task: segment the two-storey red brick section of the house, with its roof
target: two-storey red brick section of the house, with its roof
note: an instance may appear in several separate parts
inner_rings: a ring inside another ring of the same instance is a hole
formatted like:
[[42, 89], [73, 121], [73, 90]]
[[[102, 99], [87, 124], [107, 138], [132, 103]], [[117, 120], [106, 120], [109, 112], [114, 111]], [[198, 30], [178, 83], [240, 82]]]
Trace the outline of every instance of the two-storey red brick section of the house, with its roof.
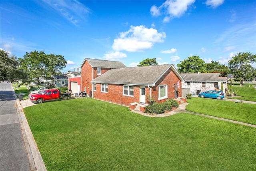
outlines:
[[90, 97], [92, 97], [93, 84], [91, 81], [93, 79], [101, 76], [109, 70], [126, 68], [126, 66], [122, 62], [86, 58], [82, 62], [80, 68], [82, 78], [80, 91], [85, 91]]

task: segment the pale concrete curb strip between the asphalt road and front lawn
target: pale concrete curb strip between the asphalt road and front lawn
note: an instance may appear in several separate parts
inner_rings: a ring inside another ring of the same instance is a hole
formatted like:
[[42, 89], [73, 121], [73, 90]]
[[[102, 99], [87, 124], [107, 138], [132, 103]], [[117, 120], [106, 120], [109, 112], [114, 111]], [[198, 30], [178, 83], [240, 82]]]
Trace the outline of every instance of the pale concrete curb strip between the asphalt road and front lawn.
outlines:
[[[16, 97], [15, 91], [13, 89], [14, 97]], [[46, 167], [44, 165], [44, 161], [42, 159], [42, 156], [40, 154], [40, 151], [36, 145], [36, 141], [33, 137], [33, 134], [31, 132], [31, 129], [28, 125], [28, 121], [26, 119], [26, 116], [23, 112], [22, 106], [20, 104], [20, 100], [16, 98], [15, 100], [17, 113], [18, 113], [18, 119], [20, 121], [21, 131], [22, 131], [22, 137], [24, 139], [26, 151], [28, 153], [28, 159], [29, 159], [29, 165], [30, 169], [32, 171], [47, 171]]]

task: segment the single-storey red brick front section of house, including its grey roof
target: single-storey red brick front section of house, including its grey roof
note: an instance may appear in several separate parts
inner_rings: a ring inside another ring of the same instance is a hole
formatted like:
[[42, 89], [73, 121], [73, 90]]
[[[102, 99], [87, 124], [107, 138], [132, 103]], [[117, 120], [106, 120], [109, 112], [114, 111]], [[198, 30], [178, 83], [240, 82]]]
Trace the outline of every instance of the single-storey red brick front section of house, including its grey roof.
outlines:
[[[97, 71], [91, 70], [87, 72]], [[178, 98], [185, 81], [172, 64], [112, 69], [92, 78], [92, 97], [126, 106], [146, 103], [147, 95], [157, 103]]]

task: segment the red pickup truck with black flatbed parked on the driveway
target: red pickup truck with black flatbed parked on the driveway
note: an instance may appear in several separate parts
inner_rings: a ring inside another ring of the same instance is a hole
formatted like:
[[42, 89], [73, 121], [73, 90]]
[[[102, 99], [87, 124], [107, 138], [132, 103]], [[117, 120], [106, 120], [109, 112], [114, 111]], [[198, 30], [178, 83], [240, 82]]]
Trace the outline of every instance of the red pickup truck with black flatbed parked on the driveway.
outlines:
[[33, 103], [43, 103], [46, 100], [52, 99], [64, 99], [67, 100], [68, 97], [71, 97], [71, 93], [62, 93], [59, 89], [46, 89], [41, 93], [32, 94], [30, 96], [30, 101]]

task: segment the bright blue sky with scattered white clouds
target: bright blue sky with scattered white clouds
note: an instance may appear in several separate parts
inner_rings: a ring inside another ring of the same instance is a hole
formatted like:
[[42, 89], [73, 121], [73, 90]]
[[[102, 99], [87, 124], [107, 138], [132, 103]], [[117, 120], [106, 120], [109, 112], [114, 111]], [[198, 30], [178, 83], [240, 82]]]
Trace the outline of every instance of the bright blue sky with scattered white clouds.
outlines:
[[1, 45], [10, 55], [62, 55], [74, 71], [85, 58], [137, 66], [146, 58], [206, 63], [256, 54], [255, 0], [1, 0]]

